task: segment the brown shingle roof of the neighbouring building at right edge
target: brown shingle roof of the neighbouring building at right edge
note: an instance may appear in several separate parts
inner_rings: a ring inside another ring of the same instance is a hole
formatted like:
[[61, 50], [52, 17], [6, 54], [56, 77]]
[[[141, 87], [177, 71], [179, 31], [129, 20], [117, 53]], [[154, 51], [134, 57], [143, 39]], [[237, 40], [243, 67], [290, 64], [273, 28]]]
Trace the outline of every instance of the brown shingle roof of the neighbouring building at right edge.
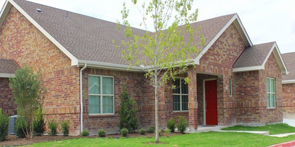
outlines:
[[289, 74], [283, 75], [282, 80], [295, 80], [295, 52], [282, 54]]

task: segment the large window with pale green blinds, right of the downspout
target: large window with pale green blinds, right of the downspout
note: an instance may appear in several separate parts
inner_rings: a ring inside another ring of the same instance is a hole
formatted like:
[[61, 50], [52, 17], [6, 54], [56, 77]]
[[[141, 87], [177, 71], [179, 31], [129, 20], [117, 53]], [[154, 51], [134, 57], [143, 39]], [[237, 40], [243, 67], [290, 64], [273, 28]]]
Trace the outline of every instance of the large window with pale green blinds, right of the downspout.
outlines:
[[114, 114], [114, 78], [89, 75], [89, 114]]

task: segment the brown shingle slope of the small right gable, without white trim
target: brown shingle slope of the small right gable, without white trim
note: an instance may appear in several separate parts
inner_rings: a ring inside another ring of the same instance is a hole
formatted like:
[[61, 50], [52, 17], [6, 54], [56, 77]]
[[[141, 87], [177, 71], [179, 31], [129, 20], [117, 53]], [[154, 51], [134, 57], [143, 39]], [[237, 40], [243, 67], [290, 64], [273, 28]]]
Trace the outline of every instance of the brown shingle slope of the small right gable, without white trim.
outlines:
[[258, 44], [246, 48], [236, 61], [234, 68], [261, 66], [274, 43]]

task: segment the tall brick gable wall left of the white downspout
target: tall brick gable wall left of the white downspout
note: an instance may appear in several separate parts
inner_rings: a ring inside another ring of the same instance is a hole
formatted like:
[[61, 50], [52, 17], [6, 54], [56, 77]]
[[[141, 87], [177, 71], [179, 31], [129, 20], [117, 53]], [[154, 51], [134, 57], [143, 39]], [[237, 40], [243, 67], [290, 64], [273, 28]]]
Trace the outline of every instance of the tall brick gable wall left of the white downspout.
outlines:
[[0, 28], [0, 58], [40, 70], [48, 91], [42, 100], [46, 121], [68, 119], [70, 134], [79, 134], [79, 68], [13, 6]]

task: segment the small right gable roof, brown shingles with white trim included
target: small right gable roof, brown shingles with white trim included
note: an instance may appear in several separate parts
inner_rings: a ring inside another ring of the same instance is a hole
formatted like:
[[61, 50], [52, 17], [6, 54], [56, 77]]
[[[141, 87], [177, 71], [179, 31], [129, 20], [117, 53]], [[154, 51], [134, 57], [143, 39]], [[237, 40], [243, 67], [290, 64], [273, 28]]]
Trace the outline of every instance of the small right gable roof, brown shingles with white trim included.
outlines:
[[233, 67], [233, 72], [264, 70], [266, 61], [271, 53], [274, 53], [282, 73], [288, 74], [287, 67], [276, 42], [253, 45], [244, 49]]

